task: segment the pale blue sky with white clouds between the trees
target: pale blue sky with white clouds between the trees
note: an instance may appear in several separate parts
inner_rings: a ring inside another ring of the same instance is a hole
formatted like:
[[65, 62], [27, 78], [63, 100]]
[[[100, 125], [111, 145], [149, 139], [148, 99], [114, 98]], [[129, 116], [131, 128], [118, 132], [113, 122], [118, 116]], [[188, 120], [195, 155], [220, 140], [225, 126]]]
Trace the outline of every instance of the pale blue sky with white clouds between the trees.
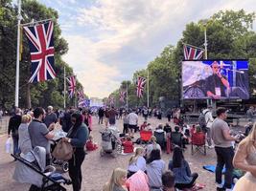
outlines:
[[255, 0], [37, 1], [58, 11], [69, 46], [63, 60], [74, 69], [84, 93], [102, 98], [146, 69], [166, 46], [176, 45], [186, 24], [221, 10], [256, 11]]

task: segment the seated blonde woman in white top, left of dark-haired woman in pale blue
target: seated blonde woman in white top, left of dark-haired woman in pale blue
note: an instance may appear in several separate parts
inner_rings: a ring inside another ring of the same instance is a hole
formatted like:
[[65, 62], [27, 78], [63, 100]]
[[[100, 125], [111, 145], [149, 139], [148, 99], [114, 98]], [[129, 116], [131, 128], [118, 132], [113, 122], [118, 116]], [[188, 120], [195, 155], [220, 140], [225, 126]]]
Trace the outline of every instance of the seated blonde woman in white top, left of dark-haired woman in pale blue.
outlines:
[[144, 148], [138, 147], [135, 150], [135, 155], [128, 160], [128, 178], [138, 172], [146, 171], [146, 159], [143, 158]]

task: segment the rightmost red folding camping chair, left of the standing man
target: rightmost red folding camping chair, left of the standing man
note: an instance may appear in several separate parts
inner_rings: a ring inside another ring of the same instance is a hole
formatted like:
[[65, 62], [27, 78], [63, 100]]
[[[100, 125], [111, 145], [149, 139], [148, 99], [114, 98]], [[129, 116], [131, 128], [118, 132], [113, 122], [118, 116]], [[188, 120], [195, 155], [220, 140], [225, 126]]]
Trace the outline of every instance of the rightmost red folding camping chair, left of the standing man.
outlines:
[[191, 135], [191, 154], [198, 151], [206, 156], [205, 135], [202, 132]]

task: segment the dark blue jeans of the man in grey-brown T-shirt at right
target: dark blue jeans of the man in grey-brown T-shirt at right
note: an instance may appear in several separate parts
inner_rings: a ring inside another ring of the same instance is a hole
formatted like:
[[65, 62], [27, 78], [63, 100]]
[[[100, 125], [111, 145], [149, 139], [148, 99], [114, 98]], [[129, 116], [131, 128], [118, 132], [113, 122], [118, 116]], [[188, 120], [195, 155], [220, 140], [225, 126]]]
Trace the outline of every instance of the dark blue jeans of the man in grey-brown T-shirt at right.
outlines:
[[233, 147], [215, 147], [217, 154], [217, 166], [215, 172], [216, 182], [221, 184], [222, 169], [225, 165], [225, 174], [224, 174], [224, 188], [231, 188], [232, 186], [232, 173], [233, 173], [233, 164], [232, 160], [234, 158], [234, 149]]

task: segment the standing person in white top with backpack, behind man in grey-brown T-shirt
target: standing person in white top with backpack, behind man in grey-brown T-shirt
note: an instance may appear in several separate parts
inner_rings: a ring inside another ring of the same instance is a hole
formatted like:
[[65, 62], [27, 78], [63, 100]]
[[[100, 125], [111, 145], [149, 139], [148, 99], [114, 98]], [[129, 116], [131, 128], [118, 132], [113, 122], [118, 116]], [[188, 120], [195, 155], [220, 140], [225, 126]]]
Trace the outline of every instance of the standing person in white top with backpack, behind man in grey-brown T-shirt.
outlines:
[[212, 145], [212, 138], [211, 138], [211, 128], [214, 121], [213, 115], [212, 115], [212, 106], [208, 106], [207, 109], [202, 111], [202, 114], [205, 119], [205, 128], [206, 128], [206, 136], [207, 136], [207, 143], [208, 147], [210, 149], [214, 148]]

